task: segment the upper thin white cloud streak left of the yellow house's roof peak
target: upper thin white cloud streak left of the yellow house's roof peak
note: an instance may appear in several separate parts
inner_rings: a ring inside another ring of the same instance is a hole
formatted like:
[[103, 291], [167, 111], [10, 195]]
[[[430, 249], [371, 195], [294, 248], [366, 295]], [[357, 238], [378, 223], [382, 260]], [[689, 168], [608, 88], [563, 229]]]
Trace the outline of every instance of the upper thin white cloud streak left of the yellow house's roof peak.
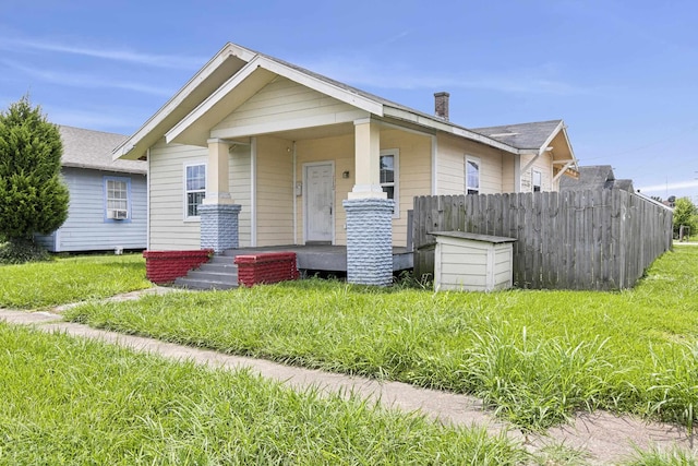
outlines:
[[81, 55], [103, 60], [113, 60], [149, 67], [173, 68], [181, 70], [196, 70], [206, 62], [206, 59], [202, 59], [201, 57], [141, 53], [130, 50], [91, 48], [81, 45], [65, 45], [57, 41], [25, 40], [7, 37], [0, 38], [0, 49], [8, 51], [52, 51], [59, 53]]

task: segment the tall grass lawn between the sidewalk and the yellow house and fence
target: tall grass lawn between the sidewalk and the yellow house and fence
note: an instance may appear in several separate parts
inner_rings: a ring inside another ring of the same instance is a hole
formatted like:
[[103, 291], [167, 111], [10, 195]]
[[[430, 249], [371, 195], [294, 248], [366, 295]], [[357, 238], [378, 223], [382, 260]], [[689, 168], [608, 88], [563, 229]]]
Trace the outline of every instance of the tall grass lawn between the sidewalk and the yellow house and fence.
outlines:
[[493, 294], [302, 280], [87, 303], [125, 333], [482, 397], [528, 429], [578, 409], [698, 421], [698, 248], [633, 290]]

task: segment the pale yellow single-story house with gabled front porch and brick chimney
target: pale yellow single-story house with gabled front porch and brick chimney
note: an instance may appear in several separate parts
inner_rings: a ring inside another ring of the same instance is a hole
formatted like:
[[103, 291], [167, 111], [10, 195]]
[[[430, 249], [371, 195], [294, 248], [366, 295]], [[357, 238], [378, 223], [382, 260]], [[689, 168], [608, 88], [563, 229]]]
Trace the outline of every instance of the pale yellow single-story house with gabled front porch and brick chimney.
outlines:
[[392, 280], [426, 194], [555, 191], [562, 120], [467, 129], [227, 44], [116, 150], [147, 160], [148, 250], [342, 244], [353, 283]]

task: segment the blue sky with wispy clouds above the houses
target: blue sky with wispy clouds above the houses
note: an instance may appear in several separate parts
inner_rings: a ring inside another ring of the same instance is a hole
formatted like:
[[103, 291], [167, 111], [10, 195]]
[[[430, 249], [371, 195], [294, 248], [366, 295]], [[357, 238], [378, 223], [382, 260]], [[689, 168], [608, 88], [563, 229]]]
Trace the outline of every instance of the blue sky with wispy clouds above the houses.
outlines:
[[232, 41], [468, 128], [562, 118], [581, 165], [698, 202], [698, 2], [1, 0], [0, 107], [134, 132]]

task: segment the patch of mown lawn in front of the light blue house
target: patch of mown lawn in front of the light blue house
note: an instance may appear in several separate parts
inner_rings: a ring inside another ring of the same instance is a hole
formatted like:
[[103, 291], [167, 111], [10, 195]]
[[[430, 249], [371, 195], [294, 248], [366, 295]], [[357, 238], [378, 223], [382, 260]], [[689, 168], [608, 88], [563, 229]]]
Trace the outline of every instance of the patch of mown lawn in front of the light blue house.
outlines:
[[43, 309], [151, 286], [140, 254], [79, 255], [0, 265], [0, 308]]

